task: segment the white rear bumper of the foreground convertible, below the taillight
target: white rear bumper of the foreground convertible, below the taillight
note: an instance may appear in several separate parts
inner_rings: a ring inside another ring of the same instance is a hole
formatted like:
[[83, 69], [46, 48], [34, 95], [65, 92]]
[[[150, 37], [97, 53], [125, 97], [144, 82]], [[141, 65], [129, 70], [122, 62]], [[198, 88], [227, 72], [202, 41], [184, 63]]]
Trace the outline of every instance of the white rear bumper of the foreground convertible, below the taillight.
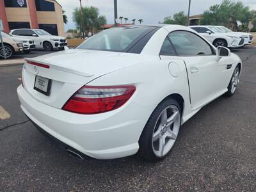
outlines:
[[17, 88], [24, 113], [45, 132], [86, 156], [113, 159], [135, 154], [138, 140], [154, 106], [132, 101], [108, 113], [80, 115], [42, 104], [22, 86]]

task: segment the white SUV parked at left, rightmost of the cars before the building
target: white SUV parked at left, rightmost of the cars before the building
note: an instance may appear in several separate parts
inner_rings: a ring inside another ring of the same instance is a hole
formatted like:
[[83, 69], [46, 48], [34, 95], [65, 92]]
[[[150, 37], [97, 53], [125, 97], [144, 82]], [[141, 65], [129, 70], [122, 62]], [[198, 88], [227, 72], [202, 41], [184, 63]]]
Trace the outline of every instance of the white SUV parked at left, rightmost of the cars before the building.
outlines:
[[45, 51], [63, 49], [67, 45], [67, 41], [63, 36], [51, 35], [43, 29], [13, 29], [10, 34], [34, 40], [36, 48], [44, 49]]

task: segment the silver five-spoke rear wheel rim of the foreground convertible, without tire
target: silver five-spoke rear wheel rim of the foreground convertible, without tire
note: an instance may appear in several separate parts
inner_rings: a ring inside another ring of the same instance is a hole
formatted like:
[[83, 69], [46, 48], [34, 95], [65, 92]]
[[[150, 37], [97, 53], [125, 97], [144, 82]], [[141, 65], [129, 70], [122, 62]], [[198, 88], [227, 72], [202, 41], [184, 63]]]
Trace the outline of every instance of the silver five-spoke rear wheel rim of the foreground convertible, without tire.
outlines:
[[177, 106], [165, 108], [157, 118], [152, 135], [152, 147], [157, 157], [165, 156], [173, 147], [180, 128], [180, 112]]

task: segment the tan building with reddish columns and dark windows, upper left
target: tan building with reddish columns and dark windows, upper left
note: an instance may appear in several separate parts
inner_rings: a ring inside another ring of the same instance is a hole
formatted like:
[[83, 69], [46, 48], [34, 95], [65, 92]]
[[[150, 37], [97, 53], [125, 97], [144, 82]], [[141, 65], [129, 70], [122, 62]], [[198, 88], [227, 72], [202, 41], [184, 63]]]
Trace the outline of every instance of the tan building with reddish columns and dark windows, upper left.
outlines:
[[62, 7], [54, 0], [0, 0], [0, 20], [8, 33], [31, 28], [64, 36]]

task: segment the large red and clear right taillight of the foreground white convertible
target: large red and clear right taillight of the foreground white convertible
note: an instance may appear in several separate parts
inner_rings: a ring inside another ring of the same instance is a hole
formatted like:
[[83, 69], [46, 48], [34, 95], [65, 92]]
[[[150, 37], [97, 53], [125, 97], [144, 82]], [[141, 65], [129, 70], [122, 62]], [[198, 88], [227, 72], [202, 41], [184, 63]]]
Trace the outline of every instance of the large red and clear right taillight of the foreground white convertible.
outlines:
[[62, 109], [74, 113], [95, 114], [120, 108], [136, 87], [131, 86], [83, 86]]

